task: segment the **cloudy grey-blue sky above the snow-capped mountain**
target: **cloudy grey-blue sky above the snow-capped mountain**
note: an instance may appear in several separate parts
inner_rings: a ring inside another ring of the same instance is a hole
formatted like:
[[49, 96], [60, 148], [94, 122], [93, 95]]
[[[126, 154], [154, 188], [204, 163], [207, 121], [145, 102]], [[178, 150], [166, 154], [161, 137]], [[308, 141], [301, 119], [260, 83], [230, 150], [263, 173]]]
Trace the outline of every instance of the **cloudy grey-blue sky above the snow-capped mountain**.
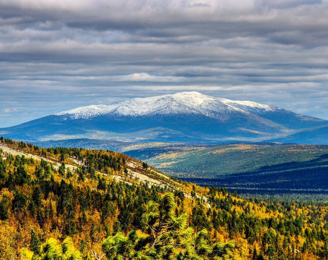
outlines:
[[197, 91], [328, 119], [328, 1], [0, 0], [0, 127]]

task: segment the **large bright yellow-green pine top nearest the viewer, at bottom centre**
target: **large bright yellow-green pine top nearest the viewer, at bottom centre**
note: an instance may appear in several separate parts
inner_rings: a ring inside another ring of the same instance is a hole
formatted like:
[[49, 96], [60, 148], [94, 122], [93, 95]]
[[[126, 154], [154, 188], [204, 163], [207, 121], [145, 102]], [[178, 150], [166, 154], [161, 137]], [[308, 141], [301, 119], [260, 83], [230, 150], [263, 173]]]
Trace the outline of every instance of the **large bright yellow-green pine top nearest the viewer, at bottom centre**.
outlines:
[[159, 203], [149, 201], [142, 215], [143, 230], [131, 230], [125, 236], [117, 232], [102, 244], [107, 259], [227, 259], [235, 243], [218, 242], [211, 246], [207, 230], [195, 233], [187, 227], [188, 216], [175, 215], [173, 193]]

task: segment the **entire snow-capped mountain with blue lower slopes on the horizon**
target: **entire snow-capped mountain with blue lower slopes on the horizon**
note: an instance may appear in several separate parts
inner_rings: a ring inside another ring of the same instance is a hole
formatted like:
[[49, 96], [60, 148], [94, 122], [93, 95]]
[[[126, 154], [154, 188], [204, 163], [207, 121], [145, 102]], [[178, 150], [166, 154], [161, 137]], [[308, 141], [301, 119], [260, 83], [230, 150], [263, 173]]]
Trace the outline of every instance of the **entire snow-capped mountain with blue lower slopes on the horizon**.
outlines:
[[74, 108], [1, 128], [0, 135], [43, 141], [89, 138], [210, 143], [274, 139], [324, 125], [328, 121], [275, 106], [179, 92]]

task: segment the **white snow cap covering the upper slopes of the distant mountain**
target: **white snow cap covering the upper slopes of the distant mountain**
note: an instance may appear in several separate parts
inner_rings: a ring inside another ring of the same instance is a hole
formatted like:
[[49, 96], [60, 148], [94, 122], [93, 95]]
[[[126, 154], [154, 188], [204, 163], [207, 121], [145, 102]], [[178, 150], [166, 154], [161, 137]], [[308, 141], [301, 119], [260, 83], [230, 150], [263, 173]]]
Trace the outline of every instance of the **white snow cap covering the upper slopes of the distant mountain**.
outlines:
[[272, 111], [273, 106], [252, 101], [234, 101], [207, 96], [195, 91], [178, 92], [155, 97], [132, 98], [110, 105], [90, 105], [60, 112], [72, 119], [91, 118], [99, 115], [142, 116], [148, 114], [201, 114], [221, 118], [234, 112], [252, 113]]

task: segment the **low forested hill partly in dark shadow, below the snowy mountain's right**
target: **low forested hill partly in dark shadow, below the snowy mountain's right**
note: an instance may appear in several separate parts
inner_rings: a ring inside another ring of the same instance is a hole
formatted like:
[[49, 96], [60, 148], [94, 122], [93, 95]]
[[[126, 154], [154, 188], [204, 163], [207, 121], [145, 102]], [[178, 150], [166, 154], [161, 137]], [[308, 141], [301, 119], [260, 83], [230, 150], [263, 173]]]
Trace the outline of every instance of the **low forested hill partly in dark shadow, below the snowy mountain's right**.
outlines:
[[242, 193], [328, 194], [328, 145], [239, 143], [126, 152], [172, 176]]

